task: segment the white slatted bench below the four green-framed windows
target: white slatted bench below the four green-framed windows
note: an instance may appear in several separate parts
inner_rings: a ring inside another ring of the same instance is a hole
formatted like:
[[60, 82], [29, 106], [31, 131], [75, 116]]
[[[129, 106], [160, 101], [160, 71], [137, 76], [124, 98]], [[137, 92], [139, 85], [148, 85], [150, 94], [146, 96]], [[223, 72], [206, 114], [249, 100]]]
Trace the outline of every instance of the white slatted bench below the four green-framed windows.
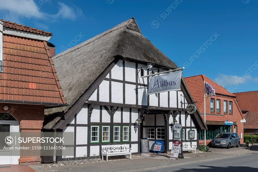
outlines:
[[126, 148], [125, 144], [120, 145], [101, 145], [101, 154], [102, 160], [103, 155], [107, 157], [106, 161], [108, 161], [108, 157], [110, 156], [119, 156], [119, 155], [130, 155], [130, 159], [132, 157], [132, 148]]

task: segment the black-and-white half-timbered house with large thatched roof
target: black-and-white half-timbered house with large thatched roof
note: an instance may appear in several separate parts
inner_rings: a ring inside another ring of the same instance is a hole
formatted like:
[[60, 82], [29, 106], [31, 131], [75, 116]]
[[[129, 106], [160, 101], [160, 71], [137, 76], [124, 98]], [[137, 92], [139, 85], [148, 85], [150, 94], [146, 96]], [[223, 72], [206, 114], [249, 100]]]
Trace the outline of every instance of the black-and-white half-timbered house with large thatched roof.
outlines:
[[[190, 142], [187, 133], [195, 130], [192, 144], [198, 145], [199, 130], [206, 126], [198, 111], [187, 114], [193, 98], [183, 78], [180, 91], [147, 94], [149, 77], [141, 76], [178, 66], [142, 35], [134, 18], [53, 61], [70, 105], [45, 111], [44, 129], [74, 132], [74, 145], [69, 147], [74, 156], [101, 155], [101, 145], [108, 144], [126, 144], [138, 154], [141, 138], [164, 140], [167, 152], [172, 147], [173, 121], [183, 126], [183, 142]], [[149, 63], [153, 67], [147, 69]]]

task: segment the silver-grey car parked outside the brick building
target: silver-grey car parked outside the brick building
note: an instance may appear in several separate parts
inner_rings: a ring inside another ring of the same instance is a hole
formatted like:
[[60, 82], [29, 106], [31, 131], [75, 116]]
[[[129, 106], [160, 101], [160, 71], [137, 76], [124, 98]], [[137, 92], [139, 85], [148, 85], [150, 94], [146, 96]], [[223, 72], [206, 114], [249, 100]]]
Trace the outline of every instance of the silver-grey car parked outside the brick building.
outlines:
[[211, 141], [211, 145], [229, 149], [230, 146], [240, 146], [240, 138], [237, 133], [220, 133]]

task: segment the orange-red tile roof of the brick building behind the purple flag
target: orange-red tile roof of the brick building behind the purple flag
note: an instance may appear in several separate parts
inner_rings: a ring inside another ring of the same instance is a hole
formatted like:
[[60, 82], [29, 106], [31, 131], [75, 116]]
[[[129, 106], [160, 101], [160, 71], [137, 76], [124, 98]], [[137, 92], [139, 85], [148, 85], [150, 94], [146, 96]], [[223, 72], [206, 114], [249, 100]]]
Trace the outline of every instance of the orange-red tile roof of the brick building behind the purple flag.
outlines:
[[205, 75], [186, 77], [184, 80], [186, 81], [187, 87], [193, 96], [193, 99], [197, 101], [196, 106], [198, 109], [204, 101], [204, 80], [206, 83], [211, 84], [215, 88], [215, 93], [235, 97], [235, 95], [231, 94], [225, 88], [215, 83]]

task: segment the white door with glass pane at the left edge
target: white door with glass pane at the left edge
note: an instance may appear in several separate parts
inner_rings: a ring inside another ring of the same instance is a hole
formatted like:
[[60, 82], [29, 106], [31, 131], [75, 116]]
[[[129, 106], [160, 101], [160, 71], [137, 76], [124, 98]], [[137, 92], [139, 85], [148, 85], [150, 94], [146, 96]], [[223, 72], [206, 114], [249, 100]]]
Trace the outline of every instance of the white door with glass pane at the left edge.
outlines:
[[12, 122], [1, 122], [0, 132], [3, 137], [0, 139], [0, 165], [11, 164], [12, 163], [12, 150], [7, 150], [4, 148], [11, 147], [11, 144], [5, 142], [7, 136], [12, 136]]

